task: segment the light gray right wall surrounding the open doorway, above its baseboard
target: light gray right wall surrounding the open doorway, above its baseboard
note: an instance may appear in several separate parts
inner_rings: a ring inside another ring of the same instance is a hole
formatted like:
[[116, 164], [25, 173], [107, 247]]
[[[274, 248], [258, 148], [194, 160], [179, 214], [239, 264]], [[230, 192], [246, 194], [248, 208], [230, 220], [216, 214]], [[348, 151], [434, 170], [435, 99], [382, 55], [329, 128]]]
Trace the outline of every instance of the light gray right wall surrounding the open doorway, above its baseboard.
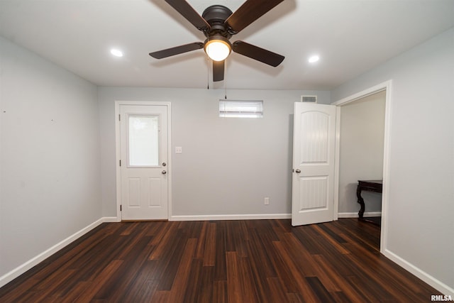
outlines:
[[386, 250], [454, 294], [454, 28], [331, 92], [392, 79]]

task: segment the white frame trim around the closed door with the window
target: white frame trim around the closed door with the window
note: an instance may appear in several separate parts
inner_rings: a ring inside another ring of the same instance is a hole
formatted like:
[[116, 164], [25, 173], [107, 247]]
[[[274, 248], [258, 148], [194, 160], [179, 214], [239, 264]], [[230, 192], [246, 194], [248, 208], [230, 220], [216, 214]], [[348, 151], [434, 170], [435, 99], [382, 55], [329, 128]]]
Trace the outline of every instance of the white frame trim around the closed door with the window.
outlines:
[[116, 160], [116, 221], [121, 221], [121, 169], [119, 162], [121, 160], [120, 145], [120, 123], [118, 115], [120, 114], [121, 105], [140, 105], [140, 106], [167, 106], [167, 219], [172, 217], [172, 111], [171, 104], [168, 101], [115, 101], [115, 160]]

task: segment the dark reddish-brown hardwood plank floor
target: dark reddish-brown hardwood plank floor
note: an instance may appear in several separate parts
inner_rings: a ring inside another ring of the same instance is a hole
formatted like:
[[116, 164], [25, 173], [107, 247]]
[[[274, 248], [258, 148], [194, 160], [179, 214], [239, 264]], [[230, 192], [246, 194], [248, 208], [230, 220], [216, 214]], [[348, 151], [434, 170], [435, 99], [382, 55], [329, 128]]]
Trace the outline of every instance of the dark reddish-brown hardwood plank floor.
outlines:
[[357, 219], [98, 226], [0, 288], [0, 302], [430, 302]]

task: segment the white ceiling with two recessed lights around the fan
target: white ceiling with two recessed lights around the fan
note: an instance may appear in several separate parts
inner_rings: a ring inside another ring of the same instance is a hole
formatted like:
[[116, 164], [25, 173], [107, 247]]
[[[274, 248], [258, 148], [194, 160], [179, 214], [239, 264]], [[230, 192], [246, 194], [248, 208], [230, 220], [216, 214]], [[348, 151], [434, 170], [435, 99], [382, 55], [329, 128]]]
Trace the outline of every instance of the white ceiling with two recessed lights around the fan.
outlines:
[[[212, 4], [235, 11], [243, 0], [188, 2], [201, 14]], [[203, 50], [148, 55], [204, 41], [163, 0], [0, 0], [1, 36], [100, 86], [333, 89], [453, 26], [453, 0], [284, 0], [231, 38], [284, 62], [270, 67], [233, 53], [225, 83], [213, 84]], [[314, 65], [312, 54], [321, 57]]]

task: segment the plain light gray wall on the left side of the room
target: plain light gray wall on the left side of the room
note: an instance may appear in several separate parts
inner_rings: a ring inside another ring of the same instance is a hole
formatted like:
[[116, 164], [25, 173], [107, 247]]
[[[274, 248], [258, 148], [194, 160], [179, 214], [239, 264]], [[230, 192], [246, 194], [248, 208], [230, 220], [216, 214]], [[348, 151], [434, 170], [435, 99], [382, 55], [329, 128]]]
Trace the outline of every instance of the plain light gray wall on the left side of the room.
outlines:
[[96, 92], [0, 38], [0, 277], [101, 217]]

